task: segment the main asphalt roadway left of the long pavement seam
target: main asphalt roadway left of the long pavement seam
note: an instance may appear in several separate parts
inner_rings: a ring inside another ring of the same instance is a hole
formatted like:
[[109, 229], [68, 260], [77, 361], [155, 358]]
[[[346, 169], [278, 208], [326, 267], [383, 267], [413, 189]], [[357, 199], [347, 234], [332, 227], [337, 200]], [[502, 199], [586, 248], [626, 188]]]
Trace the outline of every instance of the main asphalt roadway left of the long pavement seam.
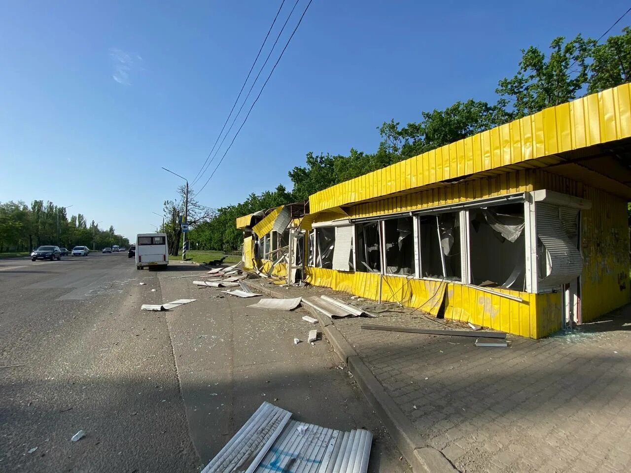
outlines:
[[0, 262], [0, 366], [23, 365], [0, 368], [0, 471], [198, 469], [165, 318], [138, 310], [156, 274], [126, 254]]

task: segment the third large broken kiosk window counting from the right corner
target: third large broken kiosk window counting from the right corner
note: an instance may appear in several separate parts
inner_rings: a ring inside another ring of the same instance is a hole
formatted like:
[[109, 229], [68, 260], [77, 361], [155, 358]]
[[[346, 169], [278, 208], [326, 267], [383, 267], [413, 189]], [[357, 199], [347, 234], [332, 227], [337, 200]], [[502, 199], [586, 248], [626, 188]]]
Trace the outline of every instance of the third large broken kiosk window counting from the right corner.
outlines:
[[412, 217], [384, 221], [386, 274], [411, 276], [415, 273], [412, 221]]

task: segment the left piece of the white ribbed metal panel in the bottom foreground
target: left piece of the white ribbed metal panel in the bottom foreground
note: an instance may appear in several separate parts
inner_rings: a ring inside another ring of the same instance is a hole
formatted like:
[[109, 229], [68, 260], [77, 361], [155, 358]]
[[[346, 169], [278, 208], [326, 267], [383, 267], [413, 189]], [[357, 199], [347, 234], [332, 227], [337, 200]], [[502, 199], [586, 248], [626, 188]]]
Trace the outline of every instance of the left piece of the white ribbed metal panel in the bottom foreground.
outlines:
[[254, 472], [291, 416], [291, 412], [264, 402], [201, 473]]

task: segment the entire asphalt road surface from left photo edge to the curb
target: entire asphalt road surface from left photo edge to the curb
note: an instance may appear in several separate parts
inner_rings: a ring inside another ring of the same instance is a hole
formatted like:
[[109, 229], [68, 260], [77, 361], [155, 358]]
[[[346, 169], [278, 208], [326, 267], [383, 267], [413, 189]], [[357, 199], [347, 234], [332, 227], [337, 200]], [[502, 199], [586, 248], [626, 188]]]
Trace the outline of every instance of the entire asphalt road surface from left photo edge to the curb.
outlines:
[[[370, 429], [369, 472], [409, 471], [330, 344], [293, 343], [314, 328], [303, 313], [247, 308], [193, 272], [126, 254], [0, 261], [0, 471], [196, 472], [264, 400]], [[179, 298], [197, 300], [139, 310]]]

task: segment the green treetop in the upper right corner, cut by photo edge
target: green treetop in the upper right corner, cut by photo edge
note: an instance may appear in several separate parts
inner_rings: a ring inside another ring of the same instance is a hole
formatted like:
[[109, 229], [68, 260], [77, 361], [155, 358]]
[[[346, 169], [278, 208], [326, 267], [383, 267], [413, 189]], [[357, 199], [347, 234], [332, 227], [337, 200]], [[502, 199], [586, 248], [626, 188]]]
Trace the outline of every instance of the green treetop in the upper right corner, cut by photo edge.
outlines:
[[604, 44], [594, 46], [593, 63], [589, 67], [589, 93], [625, 84], [631, 80], [631, 28], [622, 28], [622, 35], [610, 36]]

